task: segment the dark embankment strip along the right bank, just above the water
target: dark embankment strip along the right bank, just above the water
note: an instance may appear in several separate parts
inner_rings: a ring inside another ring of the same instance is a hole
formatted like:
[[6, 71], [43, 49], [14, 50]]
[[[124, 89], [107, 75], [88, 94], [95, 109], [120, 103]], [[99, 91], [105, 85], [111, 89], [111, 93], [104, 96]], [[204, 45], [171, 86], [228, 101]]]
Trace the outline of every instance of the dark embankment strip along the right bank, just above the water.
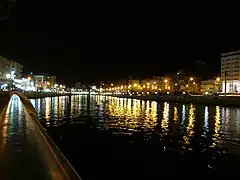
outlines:
[[110, 95], [113, 97], [127, 98], [127, 99], [139, 99], [146, 101], [164, 101], [172, 103], [183, 104], [206, 104], [206, 105], [224, 105], [224, 106], [240, 106], [240, 96], [157, 96], [157, 95]]

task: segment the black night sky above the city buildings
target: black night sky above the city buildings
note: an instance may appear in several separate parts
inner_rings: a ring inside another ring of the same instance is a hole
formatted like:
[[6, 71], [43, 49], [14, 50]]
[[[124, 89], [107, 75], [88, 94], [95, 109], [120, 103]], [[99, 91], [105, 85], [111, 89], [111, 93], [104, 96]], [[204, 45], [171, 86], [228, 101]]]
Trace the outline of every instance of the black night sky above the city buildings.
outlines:
[[[238, 6], [178, 1], [17, 1], [0, 21], [0, 55], [62, 83], [193, 71], [219, 72], [240, 47]], [[210, 70], [208, 70], [210, 69]]]

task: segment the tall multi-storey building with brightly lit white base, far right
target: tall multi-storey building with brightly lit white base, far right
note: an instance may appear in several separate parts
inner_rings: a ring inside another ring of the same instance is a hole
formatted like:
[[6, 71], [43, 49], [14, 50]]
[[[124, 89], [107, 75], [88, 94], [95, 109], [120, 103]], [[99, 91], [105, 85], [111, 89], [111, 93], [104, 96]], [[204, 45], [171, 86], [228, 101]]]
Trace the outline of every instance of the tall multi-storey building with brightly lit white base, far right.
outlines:
[[240, 50], [221, 54], [221, 80], [224, 93], [240, 92]]

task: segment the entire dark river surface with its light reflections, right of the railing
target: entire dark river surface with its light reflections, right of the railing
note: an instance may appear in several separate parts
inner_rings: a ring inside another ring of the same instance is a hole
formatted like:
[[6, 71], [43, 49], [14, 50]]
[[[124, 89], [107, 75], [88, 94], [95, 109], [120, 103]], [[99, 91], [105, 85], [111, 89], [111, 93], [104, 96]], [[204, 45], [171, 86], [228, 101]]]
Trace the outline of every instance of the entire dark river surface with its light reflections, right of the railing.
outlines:
[[238, 108], [101, 96], [89, 111], [86, 96], [32, 103], [85, 180], [239, 176]]

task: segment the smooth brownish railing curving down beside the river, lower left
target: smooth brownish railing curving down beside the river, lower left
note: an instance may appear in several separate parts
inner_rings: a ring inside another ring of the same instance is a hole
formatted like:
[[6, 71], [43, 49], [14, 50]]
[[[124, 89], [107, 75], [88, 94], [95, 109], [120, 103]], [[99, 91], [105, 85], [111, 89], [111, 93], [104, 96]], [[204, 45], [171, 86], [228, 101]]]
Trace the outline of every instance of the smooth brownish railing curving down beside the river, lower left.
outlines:
[[37, 112], [28, 98], [19, 92], [12, 92], [11, 96], [14, 94], [20, 98], [23, 104], [25, 116], [29, 117], [33, 125], [32, 131], [34, 131], [35, 141], [37, 142], [36, 148], [38, 149], [38, 152], [40, 152], [40, 159], [42, 163], [44, 163], [44, 166], [48, 169], [49, 179], [81, 180], [80, 176], [74, 170], [70, 162], [40, 124]]

